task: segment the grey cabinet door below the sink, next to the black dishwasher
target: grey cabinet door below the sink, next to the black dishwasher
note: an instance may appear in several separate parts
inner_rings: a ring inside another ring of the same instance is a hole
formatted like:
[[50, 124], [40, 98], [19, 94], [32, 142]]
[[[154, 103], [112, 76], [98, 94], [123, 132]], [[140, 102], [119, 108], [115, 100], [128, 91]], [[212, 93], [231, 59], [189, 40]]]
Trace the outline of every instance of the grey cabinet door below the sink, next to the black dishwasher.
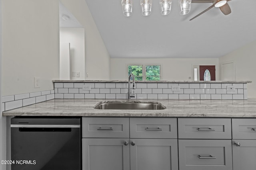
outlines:
[[129, 139], [83, 138], [82, 169], [130, 170]]

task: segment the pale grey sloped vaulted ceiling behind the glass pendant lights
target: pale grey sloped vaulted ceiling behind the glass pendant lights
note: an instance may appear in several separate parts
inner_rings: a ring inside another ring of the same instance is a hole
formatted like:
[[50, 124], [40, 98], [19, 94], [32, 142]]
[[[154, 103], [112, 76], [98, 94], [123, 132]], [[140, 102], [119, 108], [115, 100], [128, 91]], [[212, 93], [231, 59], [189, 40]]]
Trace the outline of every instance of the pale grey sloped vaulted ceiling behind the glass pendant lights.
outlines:
[[140, 0], [133, 0], [130, 17], [122, 14], [121, 0], [86, 3], [113, 58], [218, 58], [256, 40], [256, 0], [230, 0], [231, 14], [214, 7], [192, 21], [212, 3], [192, 3], [181, 16], [172, 0], [170, 14], [162, 16], [153, 0], [150, 16], [142, 16]]

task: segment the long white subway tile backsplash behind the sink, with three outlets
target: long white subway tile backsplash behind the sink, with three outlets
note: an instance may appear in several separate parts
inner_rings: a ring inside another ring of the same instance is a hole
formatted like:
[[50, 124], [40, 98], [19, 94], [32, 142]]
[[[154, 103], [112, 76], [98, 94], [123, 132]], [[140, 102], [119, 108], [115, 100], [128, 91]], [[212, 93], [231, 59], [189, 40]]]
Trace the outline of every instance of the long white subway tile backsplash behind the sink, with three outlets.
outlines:
[[[83, 90], [90, 85], [91, 90]], [[172, 91], [172, 86], [180, 86]], [[227, 86], [234, 86], [228, 91]], [[74, 87], [74, 88], [72, 88]], [[55, 99], [126, 99], [128, 83], [124, 82], [54, 82]], [[185, 99], [185, 100], [247, 100], [246, 83], [136, 83], [133, 99]]]

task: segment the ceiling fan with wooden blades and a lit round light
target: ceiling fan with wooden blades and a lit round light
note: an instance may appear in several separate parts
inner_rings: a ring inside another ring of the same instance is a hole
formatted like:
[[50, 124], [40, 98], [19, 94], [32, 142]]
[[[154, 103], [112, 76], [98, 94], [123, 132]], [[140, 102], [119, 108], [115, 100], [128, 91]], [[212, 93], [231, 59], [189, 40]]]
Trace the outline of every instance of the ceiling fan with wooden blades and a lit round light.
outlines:
[[206, 10], [204, 10], [203, 12], [201, 12], [200, 14], [194, 16], [193, 18], [190, 19], [194, 20], [196, 17], [204, 14], [204, 12], [210, 10], [211, 8], [213, 8], [214, 6], [216, 8], [220, 8], [221, 12], [225, 15], [228, 15], [231, 13], [231, 9], [230, 6], [228, 5], [228, 1], [230, 0], [192, 0], [192, 3], [212, 3], [212, 6], [210, 6], [209, 8], [207, 8]]

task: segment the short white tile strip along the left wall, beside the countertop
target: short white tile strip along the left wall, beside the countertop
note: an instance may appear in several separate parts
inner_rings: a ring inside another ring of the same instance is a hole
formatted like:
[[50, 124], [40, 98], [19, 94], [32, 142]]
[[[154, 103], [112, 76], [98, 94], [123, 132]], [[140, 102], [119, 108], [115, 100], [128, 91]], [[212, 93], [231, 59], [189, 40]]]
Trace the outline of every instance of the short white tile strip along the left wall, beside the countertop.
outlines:
[[28, 106], [54, 99], [54, 90], [2, 96], [2, 111]]

